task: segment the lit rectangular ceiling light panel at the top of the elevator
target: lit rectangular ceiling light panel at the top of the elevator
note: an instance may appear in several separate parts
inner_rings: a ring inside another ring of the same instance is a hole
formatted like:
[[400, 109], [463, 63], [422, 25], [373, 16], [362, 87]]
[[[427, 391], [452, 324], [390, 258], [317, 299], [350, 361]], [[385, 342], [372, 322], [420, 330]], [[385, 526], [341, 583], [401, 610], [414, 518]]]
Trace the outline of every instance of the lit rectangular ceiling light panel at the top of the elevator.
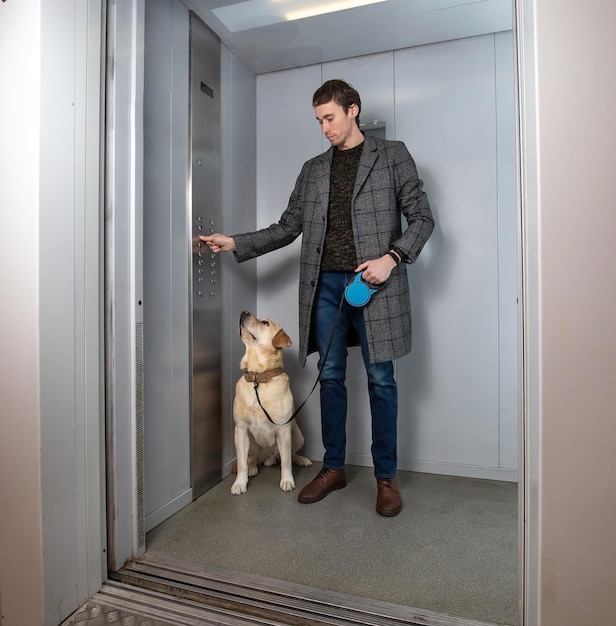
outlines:
[[385, 2], [385, 0], [247, 0], [212, 9], [231, 32], [300, 20], [345, 9]]

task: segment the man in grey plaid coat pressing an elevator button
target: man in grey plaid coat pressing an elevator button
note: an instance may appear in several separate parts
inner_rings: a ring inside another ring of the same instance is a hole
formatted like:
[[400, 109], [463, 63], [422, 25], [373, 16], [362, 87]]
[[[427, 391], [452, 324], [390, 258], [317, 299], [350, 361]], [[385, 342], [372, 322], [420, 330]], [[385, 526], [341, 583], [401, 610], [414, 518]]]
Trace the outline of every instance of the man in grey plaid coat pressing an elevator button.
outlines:
[[[325, 455], [323, 468], [298, 500], [318, 502], [346, 486], [347, 346], [359, 344], [368, 376], [376, 510], [393, 517], [402, 509], [395, 480], [398, 393], [393, 361], [411, 349], [406, 264], [417, 259], [434, 221], [405, 145], [361, 132], [361, 100], [353, 87], [327, 81], [314, 93], [312, 105], [331, 148], [304, 164], [278, 223], [254, 233], [201, 239], [214, 252], [233, 251], [241, 262], [302, 235], [299, 358], [305, 365], [309, 353], [319, 353]], [[346, 302], [340, 308], [344, 288], [357, 272], [377, 291], [363, 308]]]

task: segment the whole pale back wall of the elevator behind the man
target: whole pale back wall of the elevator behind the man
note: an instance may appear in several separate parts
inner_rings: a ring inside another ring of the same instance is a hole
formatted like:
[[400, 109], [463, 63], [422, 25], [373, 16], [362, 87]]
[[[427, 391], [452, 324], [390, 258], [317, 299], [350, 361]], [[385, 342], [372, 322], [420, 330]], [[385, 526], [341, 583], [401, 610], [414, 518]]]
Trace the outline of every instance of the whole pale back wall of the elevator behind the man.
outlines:
[[[484, 35], [266, 74], [258, 85], [258, 220], [277, 221], [301, 164], [328, 148], [311, 97], [341, 77], [362, 96], [363, 123], [406, 142], [436, 229], [409, 269], [414, 341], [397, 363], [400, 469], [516, 480], [518, 214], [511, 33]], [[284, 106], [281, 106], [281, 96]], [[292, 137], [292, 141], [289, 141]], [[297, 337], [298, 246], [261, 257], [259, 314]], [[282, 319], [281, 319], [282, 318]], [[347, 462], [371, 465], [359, 352], [349, 360]], [[287, 369], [295, 366], [290, 350]], [[290, 371], [300, 402], [316, 378]], [[300, 415], [321, 457], [318, 398]]]

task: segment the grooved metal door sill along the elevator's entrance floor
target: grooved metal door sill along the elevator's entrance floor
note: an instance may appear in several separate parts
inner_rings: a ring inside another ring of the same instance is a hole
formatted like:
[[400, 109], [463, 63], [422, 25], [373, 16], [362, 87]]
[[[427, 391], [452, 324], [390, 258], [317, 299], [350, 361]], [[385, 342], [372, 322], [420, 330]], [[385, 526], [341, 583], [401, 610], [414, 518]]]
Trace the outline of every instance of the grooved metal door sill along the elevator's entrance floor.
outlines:
[[[182, 607], [182, 611], [187, 612], [186, 615], [182, 613], [182, 619], [188, 619], [190, 611], [211, 612], [209, 616], [204, 614], [199, 617], [201, 621], [176, 620], [165, 621], [164, 624], [495, 626], [487, 622], [314, 589], [254, 574], [198, 567], [159, 557], [148, 558], [147, 554], [131, 561], [110, 576], [115, 582], [106, 583], [103, 591], [107, 594], [113, 591], [114, 595], [118, 595], [118, 590], [127, 594], [130, 590], [132, 602], [135, 601], [135, 595], [140, 593], [147, 596], [143, 602], [156, 598], [163, 598], [165, 603], [176, 602]], [[97, 594], [93, 600], [100, 601], [99, 596]], [[175, 607], [174, 610], [177, 614], [179, 609]], [[145, 625], [145, 622], [134, 623]], [[74, 626], [78, 625], [75, 623]], [[154, 626], [153, 622], [151, 626]]]

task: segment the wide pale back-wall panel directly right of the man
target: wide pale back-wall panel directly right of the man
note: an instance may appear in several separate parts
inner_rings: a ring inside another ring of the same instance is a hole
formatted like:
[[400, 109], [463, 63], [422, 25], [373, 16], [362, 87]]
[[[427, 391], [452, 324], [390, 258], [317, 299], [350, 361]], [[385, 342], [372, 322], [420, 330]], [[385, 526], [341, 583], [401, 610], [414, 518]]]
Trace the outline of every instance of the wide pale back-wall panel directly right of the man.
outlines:
[[[396, 136], [417, 160], [437, 224], [410, 271], [416, 332], [413, 353], [398, 368], [398, 380], [408, 381], [400, 394], [403, 458], [436, 471], [515, 480], [499, 459], [499, 296], [505, 286], [499, 276], [494, 36], [400, 50], [395, 58]], [[515, 151], [509, 157], [513, 165]], [[515, 216], [515, 192], [509, 207]], [[513, 226], [500, 234], [514, 242], [515, 263], [515, 220]], [[514, 294], [515, 280], [514, 274]], [[515, 363], [515, 324], [510, 330]], [[513, 416], [517, 426], [517, 407]]]

